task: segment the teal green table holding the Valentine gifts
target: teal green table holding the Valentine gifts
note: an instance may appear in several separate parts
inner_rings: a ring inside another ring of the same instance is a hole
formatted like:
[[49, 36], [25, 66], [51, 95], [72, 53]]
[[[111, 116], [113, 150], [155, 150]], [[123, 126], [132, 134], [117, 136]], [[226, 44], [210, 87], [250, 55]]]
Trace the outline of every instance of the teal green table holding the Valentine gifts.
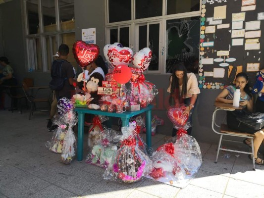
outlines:
[[123, 113], [110, 113], [101, 110], [93, 110], [88, 108], [74, 108], [78, 112], [78, 141], [77, 141], [77, 159], [83, 159], [83, 130], [84, 130], [84, 114], [90, 113], [94, 115], [105, 115], [109, 117], [118, 117], [122, 120], [122, 126], [128, 126], [129, 118], [146, 112], [146, 139], [148, 147], [151, 147], [151, 109], [153, 105], [150, 104], [146, 108], [139, 111], [125, 111]]

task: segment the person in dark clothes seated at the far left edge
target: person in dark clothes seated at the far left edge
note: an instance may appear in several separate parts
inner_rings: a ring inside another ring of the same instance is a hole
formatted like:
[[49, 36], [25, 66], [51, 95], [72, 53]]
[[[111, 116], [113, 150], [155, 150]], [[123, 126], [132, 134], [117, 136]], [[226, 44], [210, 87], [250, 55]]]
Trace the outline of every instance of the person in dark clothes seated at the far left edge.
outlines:
[[[7, 57], [1, 56], [0, 57], [0, 64], [3, 66], [3, 70], [0, 71], [0, 85], [5, 86], [15, 86], [17, 85], [17, 81], [13, 76], [14, 70], [9, 65], [9, 61]], [[6, 88], [0, 88], [0, 98], [2, 96], [2, 90]], [[16, 95], [16, 88], [10, 88], [10, 94], [12, 96]], [[16, 110], [17, 109], [17, 99], [14, 98], [14, 108], [9, 110]]]

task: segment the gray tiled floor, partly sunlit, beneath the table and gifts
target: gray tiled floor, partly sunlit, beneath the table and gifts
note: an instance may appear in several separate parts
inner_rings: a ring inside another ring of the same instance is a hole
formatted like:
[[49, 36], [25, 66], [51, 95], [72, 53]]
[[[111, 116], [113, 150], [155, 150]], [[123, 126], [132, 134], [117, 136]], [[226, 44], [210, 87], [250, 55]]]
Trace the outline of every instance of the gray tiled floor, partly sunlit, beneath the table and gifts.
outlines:
[[[224, 158], [224, 152], [215, 164], [216, 145], [201, 142], [203, 164], [184, 189], [149, 179], [133, 184], [105, 181], [103, 169], [76, 159], [64, 165], [59, 154], [45, 147], [52, 136], [47, 117], [35, 113], [28, 120], [28, 112], [0, 110], [0, 198], [264, 198], [264, 166], [252, 171], [246, 154]], [[154, 149], [164, 143], [163, 137], [153, 137]]]

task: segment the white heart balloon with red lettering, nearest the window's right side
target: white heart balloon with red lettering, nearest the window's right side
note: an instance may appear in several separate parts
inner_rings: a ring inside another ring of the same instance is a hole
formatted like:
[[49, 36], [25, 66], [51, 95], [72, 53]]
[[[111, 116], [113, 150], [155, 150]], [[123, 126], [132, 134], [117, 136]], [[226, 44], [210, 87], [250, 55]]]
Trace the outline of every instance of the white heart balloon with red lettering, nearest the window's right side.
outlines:
[[151, 63], [151, 58], [152, 58], [151, 49], [144, 48], [135, 53], [132, 62], [134, 67], [140, 68], [143, 71], [145, 71]]

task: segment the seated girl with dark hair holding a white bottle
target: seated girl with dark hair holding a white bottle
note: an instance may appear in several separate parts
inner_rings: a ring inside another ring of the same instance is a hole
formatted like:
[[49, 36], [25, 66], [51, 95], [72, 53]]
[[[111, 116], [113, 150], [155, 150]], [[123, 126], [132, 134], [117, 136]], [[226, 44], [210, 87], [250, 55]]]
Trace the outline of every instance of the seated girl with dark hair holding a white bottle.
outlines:
[[[248, 86], [248, 75], [246, 73], [239, 73], [236, 75], [236, 85], [230, 85], [226, 87], [215, 99], [215, 101], [218, 102], [224, 102], [224, 103], [233, 103], [233, 97], [234, 92], [236, 90], [236, 87], [239, 86], [242, 102], [240, 102], [240, 105], [247, 111], [252, 112], [253, 111], [253, 97], [249, 90]], [[240, 110], [235, 110], [237, 113], [239, 113]], [[258, 157], [258, 150], [261, 146], [261, 144], [264, 144], [264, 132], [263, 130], [254, 131], [253, 129], [247, 127], [246, 125], [240, 124], [238, 120], [236, 120], [236, 116], [232, 111], [226, 112], [227, 117], [227, 125], [230, 129], [238, 130], [242, 133], [250, 133], [254, 134], [255, 137], [253, 139], [254, 142], [254, 158], [256, 164], [264, 165], [264, 159], [261, 159]], [[243, 141], [244, 144], [249, 146], [251, 148], [251, 142], [248, 139], [245, 139]], [[252, 160], [252, 155], [249, 155], [249, 158]]]

